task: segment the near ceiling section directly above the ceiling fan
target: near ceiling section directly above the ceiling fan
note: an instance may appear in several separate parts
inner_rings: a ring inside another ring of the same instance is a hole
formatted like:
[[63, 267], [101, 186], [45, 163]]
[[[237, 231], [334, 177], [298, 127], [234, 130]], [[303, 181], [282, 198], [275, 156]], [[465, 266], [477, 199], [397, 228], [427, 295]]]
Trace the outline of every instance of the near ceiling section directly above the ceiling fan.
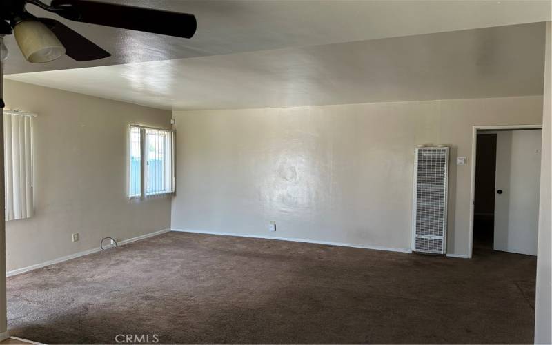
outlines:
[[[533, 23], [552, 19], [550, 0], [102, 0], [193, 13], [193, 39], [177, 39], [62, 20], [112, 53], [77, 63], [32, 65], [13, 37], [6, 73], [161, 61]], [[52, 14], [28, 6], [39, 17]], [[58, 18], [59, 19], [59, 18]]]

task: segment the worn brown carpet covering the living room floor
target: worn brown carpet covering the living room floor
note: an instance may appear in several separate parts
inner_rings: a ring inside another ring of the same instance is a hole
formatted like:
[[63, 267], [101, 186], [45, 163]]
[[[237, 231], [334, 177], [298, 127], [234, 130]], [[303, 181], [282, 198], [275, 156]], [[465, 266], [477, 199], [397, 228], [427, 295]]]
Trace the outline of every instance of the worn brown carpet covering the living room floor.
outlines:
[[166, 233], [8, 278], [44, 343], [531, 343], [535, 257], [474, 259]]

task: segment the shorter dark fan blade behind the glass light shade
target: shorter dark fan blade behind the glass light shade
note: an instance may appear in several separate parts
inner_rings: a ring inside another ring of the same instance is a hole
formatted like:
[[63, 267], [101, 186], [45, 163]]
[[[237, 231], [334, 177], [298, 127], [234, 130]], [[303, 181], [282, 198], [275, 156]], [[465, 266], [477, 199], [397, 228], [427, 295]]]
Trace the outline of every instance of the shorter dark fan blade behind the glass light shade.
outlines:
[[111, 54], [95, 43], [83, 37], [75, 30], [50, 18], [39, 18], [39, 21], [48, 26], [66, 48], [66, 55], [77, 61], [92, 61], [110, 57]]

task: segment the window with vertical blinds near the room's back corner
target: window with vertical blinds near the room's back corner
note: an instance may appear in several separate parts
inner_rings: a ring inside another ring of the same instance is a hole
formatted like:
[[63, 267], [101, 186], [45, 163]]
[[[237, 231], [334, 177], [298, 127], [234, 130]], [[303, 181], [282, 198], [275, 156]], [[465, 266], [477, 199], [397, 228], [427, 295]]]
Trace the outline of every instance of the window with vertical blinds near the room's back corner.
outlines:
[[131, 126], [129, 130], [128, 197], [174, 192], [175, 132]]

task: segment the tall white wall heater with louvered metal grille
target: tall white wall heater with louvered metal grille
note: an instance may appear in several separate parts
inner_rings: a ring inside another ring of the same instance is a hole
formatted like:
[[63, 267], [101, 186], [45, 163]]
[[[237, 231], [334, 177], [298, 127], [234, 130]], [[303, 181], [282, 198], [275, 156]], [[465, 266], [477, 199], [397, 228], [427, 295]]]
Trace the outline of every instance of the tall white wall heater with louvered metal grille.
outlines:
[[416, 148], [412, 250], [446, 253], [449, 148]]

